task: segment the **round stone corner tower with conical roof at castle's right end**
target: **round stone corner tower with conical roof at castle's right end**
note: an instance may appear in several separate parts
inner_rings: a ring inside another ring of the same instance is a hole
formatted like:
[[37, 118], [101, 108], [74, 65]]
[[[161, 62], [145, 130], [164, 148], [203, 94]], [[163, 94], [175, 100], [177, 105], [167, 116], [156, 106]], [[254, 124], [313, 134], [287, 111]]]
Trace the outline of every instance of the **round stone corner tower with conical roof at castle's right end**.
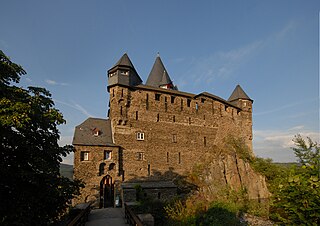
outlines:
[[246, 138], [246, 143], [252, 151], [252, 104], [253, 100], [244, 92], [240, 85], [237, 85], [233, 90], [228, 101], [243, 111], [241, 112], [242, 132]]

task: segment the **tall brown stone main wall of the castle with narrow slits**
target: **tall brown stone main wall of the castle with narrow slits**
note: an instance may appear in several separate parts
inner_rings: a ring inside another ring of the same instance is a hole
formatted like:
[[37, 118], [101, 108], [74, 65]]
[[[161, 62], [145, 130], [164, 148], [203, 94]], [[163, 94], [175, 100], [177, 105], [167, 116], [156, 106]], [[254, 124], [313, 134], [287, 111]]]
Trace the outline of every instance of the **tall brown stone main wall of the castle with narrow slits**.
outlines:
[[[252, 106], [169, 90], [114, 86], [110, 90], [114, 143], [123, 148], [125, 180], [186, 174], [205, 153], [224, 148], [228, 136], [252, 147]], [[137, 140], [137, 133], [144, 140]]]

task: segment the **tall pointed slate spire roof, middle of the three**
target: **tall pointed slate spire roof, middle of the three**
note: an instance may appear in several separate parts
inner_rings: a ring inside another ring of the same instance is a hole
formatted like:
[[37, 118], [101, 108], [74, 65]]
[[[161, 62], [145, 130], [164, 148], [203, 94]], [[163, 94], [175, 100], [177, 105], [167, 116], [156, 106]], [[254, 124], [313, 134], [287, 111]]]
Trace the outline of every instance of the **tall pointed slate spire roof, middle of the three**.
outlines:
[[158, 88], [161, 85], [167, 84], [172, 84], [172, 80], [170, 79], [170, 76], [162, 63], [161, 58], [158, 55], [153, 64], [146, 85]]

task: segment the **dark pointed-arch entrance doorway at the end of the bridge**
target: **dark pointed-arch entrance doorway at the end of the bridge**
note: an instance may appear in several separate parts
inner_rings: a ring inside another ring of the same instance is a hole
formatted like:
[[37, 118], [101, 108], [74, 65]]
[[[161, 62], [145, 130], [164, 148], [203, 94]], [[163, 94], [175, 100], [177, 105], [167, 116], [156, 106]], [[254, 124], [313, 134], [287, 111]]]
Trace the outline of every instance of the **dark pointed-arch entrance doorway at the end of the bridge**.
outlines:
[[114, 186], [112, 177], [107, 175], [100, 182], [100, 208], [113, 207]]

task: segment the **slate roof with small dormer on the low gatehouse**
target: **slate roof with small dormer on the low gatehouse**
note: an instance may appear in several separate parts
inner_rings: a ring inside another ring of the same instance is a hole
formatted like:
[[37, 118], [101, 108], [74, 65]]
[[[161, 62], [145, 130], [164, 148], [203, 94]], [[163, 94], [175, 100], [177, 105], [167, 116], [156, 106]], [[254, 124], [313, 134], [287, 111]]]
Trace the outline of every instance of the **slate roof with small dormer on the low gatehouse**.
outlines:
[[72, 144], [116, 146], [112, 142], [111, 121], [109, 119], [88, 118], [76, 126]]

